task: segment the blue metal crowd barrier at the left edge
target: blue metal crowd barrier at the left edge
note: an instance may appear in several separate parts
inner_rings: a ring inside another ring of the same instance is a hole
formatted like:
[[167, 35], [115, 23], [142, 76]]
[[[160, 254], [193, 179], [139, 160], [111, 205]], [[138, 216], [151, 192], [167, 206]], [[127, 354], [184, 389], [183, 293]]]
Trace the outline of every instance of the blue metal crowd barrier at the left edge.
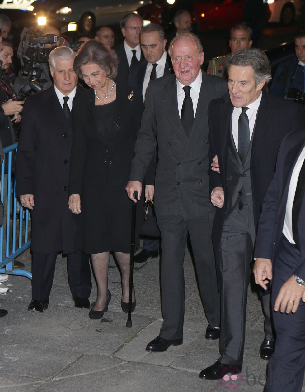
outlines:
[[[17, 213], [18, 201], [15, 196], [15, 179], [12, 188], [12, 154], [13, 151], [17, 153], [17, 145], [18, 143], [14, 143], [4, 148], [4, 160], [1, 167], [0, 191], [1, 201], [4, 204], [4, 216], [6, 215], [6, 221], [3, 221], [3, 226], [0, 227], [0, 273], [20, 275], [32, 279], [31, 272], [14, 269], [14, 259], [22, 254], [22, 252], [24, 252], [26, 249], [28, 249], [31, 243], [29, 239], [29, 210], [25, 209], [25, 214], [23, 214], [23, 207], [20, 204], [19, 213]], [[7, 165], [8, 169], [7, 174], [4, 174], [5, 164]], [[7, 190], [6, 200], [4, 200], [4, 190]], [[13, 207], [13, 211], [11, 206]], [[11, 211], [13, 215], [12, 221]]]

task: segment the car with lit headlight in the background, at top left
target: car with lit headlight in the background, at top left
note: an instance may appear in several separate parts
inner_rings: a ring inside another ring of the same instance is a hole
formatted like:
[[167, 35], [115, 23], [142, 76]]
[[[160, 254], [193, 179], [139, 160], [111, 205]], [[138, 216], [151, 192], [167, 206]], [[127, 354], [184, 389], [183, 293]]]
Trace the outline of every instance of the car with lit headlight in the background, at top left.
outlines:
[[35, 13], [45, 13], [49, 21], [76, 22], [80, 32], [89, 34], [95, 26], [119, 24], [124, 15], [148, 3], [149, 0], [37, 0], [32, 5]]

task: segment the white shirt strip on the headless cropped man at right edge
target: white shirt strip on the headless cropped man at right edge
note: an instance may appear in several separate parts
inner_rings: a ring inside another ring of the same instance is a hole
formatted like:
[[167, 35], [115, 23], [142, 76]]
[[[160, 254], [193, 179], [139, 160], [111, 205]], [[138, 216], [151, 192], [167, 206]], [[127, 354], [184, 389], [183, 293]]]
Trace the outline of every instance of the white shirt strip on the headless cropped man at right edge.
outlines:
[[292, 235], [292, 205], [293, 205], [293, 201], [294, 201], [294, 195], [296, 194], [296, 184], [298, 183], [298, 178], [299, 178], [299, 174], [300, 174], [304, 159], [305, 159], [305, 147], [301, 151], [301, 154], [300, 154], [298, 160], [296, 161], [296, 164], [294, 165], [294, 168], [293, 168], [293, 171], [291, 174], [287, 203], [286, 203], [285, 220], [284, 220], [284, 225], [283, 225], [283, 234], [287, 238], [287, 240], [292, 244], [295, 244], [295, 241], [294, 241], [293, 235]]

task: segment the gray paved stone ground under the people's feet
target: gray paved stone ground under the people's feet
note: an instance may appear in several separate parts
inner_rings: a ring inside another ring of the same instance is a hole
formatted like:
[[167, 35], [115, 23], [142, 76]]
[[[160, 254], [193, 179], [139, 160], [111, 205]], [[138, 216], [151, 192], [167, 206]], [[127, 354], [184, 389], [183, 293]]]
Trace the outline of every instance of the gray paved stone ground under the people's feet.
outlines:
[[[30, 260], [25, 260], [30, 269]], [[43, 314], [28, 312], [30, 280], [10, 276], [9, 292], [0, 295], [0, 391], [9, 392], [219, 392], [231, 389], [206, 381], [199, 372], [219, 356], [218, 341], [205, 339], [207, 321], [199, 298], [189, 252], [185, 254], [185, 325], [183, 345], [152, 354], [146, 344], [158, 333], [159, 259], [135, 264], [136, 309], [132, 328], [120, 308], [120, 276], [111, 259], [112, 299], [104, 318], [90, 320], [87, 309], [74, 308], [66, 260], [57, 258], [50, 305]], [[95, 300], [96, 286], [90, 301]], [[249, 289], [243, 381], [240, 391], [263, 390], [266, 361], [258, 356], [264, 338], [257, 294]], [[228, 381], [229, 383], [230, 381]], [[303, 388], [305, 390], [305, 388]]]

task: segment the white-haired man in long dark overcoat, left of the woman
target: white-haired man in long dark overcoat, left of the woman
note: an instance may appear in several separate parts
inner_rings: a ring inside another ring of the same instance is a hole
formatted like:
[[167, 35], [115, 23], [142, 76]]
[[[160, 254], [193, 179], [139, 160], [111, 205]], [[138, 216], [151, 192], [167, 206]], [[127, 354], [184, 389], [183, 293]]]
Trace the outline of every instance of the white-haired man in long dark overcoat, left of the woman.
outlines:
[[31, 210], [32, 301], [43, 312], [49, 303], [57, 253], [67, 254], [68, 280], [75, 307], [89, 308], [88, 255], [74, 248], [76, 222], [68, 208], [72, 147], [72, 101], [81, 93], [73, 69], [75, 52], [54, 49], [49, 57], [54, 85], [29, 96], [22, 115], [16, 158], [16, 194]]

